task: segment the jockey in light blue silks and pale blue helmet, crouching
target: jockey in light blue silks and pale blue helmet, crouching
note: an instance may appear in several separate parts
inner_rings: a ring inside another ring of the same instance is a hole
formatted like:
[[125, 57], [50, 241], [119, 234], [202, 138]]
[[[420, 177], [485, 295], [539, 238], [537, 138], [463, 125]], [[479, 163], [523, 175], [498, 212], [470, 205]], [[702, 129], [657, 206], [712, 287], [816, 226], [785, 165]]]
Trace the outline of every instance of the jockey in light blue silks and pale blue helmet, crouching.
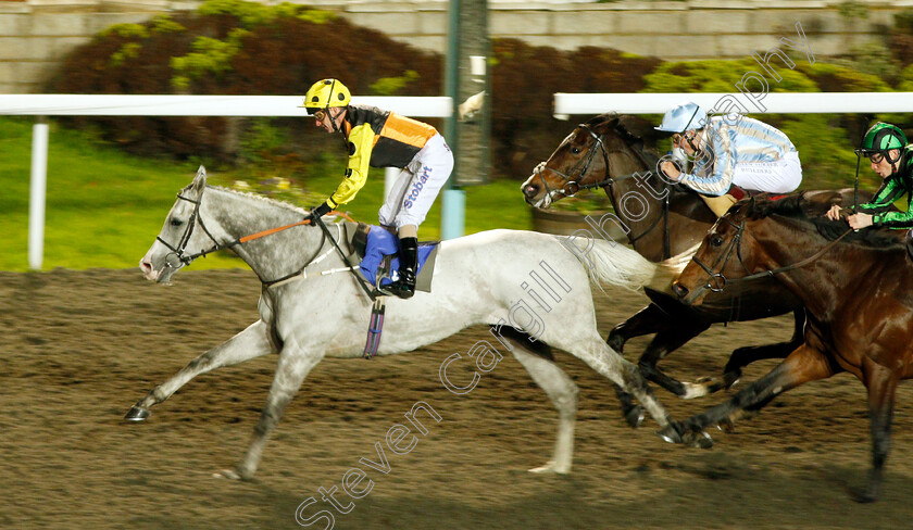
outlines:
[[729, 193], [733, 186], [788, 193], [802, 182], [796, 147], [783, 131], [758, 119], [708, 117], [697, 103], [685, 103], [666, 112], [654, 128], [673, 132], [673, 148], [695, 160], [690, 173], [670, 161], [660, 164], [662, 173], [699, 192], [717, 216], [736, 202]]

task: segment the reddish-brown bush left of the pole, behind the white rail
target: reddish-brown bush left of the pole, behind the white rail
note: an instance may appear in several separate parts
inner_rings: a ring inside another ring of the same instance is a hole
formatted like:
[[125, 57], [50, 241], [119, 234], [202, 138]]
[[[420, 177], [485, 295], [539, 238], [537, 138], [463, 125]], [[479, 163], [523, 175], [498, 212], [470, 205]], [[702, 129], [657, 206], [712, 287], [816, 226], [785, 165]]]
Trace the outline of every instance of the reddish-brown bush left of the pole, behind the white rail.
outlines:
[[[191, 52], [198, 37], [225, 39], [240, 22], [232, 15], [180, 14], [173, 22], [182, 31], [155, 33], [154, 22], [143, 24], [148, 35], [122, 36], [111, 31], [85, 45], [64, 61], [47, 87], [59, 93], [225, 93], [290, 94], [307, 91], [315, 80], [338, 77], [355, 93], [371, 93], [371, 84], [383, 77], [418, 73], [408, 86], [410, 94], [440, 91], [440, 56], [395, 42], [378, 31], [357, 27], [342, 18], [312, 23], [286, 16], [250, 29], [229, 61], [229, 68], [191, 77], [186, 90], [175, 89], [172, 58]], [[135, 56], [117, 64], [112, 58], [124, 45], [138, 43]], [[222, 117], [74, 118], [93, 123], [105, 139], [143, 155], [211, 157], [232, 161], [237, 144], [233, 135], [243, 132], [239, 121]], [[310, 122], [282, 121], [299, 149], [328, 146], [326, 138], [301, 135]], [[238, 129], [241, 129], [240, 131]], [[337, 140], [338, 143], [338, 140]], [[333, 146], [337, 146], [333, 143]], [[337, 146], [338, 147], [338, 146]]]

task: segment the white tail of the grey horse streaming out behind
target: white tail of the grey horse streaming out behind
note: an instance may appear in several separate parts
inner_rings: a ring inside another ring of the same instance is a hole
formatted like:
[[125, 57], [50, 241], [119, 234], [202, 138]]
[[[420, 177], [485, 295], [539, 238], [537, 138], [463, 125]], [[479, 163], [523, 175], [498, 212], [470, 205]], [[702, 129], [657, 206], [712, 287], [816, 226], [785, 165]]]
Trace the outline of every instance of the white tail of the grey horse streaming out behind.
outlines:
[[586, 239], [585, 249], [572, 241], [573, 238], [564, 238], [562, 244], [584, 264], [590, 280], [600, 289], [606, 285], [630, 290], [649, 287], [671, 293], [672, 281], [681, 274], [681, 269], [693, 254], [693, 252], [685, 253], [664, 262], [653, 263], [614, 241]]

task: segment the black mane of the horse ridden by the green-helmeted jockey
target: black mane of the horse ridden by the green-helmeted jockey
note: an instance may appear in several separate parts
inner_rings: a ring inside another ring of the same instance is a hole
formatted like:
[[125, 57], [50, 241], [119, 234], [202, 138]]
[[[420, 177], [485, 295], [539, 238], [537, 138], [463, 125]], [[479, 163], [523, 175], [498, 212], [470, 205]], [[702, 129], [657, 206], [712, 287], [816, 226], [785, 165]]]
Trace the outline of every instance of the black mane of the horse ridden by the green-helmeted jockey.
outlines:
[[[850, 229], [846, 219], [830, 220], [824, 216], [830, 203], [824, 201], [809, 200], [805, 191], [799, 191], [789, 195], [776, 195], [761, 193], [747, 201], [746, 204], [737, 204], [734, 209], [745, 209], [745, 216], [751, 219], [759, 219], [776, 215], [788, 219], [798, 220], [799, 225], [809, 232], [817, 232], [828, 241], [842, 236]], [[840, 243], [858, 244], [872, 249], [903, 249], [905, 242], [898, 238], [897, 230], [891, 229], [865, 229], [850, 232], [840, 240]]]

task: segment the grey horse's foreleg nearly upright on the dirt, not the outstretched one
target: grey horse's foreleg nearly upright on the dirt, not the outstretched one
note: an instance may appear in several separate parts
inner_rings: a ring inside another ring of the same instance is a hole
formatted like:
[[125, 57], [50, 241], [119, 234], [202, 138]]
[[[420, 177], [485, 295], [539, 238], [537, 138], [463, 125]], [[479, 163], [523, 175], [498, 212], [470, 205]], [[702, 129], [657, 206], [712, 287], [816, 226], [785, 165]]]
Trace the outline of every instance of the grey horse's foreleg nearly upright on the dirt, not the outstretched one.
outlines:
[[263, 455], [263, 446], [266, 445], [266, 440], [278, 425], [286, 405], [301, 388], [301, 383], [304, 382], [304, 378], [311, 369], [323, 358], [322, 354], [305, 354], [303, 349], [292, 342], [293, 339], [289, 339], [279, 353], [279, 362], [276, 365], [276, 375], [273, 376], [270, 394], [266, 396], [266, 405], [263, 407], [260, 420], [253, 430], [253, 439], [248, 446], [247, 454], [235, 471], [224, 470], [222, 476], [233, 479], [253, 477], [260, 464], [260, 457]]

